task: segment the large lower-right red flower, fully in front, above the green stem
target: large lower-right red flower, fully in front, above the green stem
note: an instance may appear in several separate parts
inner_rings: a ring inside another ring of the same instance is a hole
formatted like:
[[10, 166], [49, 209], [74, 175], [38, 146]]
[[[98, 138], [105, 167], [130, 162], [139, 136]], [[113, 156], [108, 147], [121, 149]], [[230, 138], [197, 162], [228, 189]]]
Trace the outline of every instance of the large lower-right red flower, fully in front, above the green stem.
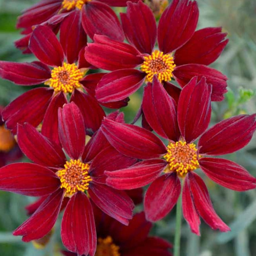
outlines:
[[183, 87], [176, 106], [156, 77], [152, 84], [148, 83], [143, 112], [149, 125], [169, 140], [167, 147], [152, 132], [135, 125], [105, 118], [101, 128], [119, 152], [143, 159], [131, 167], [105, 172], [107, 184], [132, 189], [152, 182], [144, 198], [144, 210], [148, 220], [157, 221], [176, 204], [181, 192], [180, 179], [183, 180], [183, 215], [197, 235], [200, 216], [213, 229], [229, 228], [214, 211], [196, 169], [226, 188], [245, 191], [256, 187], [256, 179], [242, 166], [211, 157], [235, 152], [249, 143], [256, 129], [256, 114], [234, 116], [206, 130], [211, 117], [211, 92], [212, 86], [206, 84], [204, 77], [200, 81], [194, 77]]

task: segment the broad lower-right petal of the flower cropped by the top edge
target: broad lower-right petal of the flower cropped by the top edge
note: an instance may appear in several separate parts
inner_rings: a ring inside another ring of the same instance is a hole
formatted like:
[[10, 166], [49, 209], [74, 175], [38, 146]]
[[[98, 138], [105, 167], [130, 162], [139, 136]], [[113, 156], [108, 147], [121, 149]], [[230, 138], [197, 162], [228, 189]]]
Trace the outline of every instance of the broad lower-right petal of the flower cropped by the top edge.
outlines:
[[116, 13], [100, 2], [88, 2], [82, 9], [82, 24], [88, 36], [105, 35], [117, 41], [124, 41], [124, 32]]

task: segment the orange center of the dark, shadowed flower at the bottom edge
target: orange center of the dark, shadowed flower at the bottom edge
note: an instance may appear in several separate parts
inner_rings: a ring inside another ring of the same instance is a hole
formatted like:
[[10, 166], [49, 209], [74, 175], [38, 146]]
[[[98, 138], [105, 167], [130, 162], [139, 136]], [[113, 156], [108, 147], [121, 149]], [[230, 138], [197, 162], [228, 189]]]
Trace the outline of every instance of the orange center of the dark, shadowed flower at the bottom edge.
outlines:
[[111, 236], [105, 239], [98, 238], [95, 256], [120, 256], [119, 246], [113, 243]]

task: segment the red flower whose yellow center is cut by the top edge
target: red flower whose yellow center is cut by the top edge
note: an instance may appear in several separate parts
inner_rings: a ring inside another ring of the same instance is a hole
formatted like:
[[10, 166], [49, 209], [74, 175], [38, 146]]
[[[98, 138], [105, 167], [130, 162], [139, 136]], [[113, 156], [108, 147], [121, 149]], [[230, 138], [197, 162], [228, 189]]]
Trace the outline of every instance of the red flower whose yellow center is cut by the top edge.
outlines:
[[74, 33], [79, 33], [81, 37], [85, 37], [85, 41], [86, 34], [91, 38], [94, 34], [99, 34], [123, 41], [124, 32], [115, 12], [109, 6], [126, 6], [126, 0], [41, 0], [18, 17], [16, 27], [22, 28], [21, 34], [26, 36], [17, 40], [15, 45], [23, 53], [30, 53], [28, 43], [32, 30], [40, 24], [48, 26], [55, 33], [60, 29], [60, 35], [69, 40]]

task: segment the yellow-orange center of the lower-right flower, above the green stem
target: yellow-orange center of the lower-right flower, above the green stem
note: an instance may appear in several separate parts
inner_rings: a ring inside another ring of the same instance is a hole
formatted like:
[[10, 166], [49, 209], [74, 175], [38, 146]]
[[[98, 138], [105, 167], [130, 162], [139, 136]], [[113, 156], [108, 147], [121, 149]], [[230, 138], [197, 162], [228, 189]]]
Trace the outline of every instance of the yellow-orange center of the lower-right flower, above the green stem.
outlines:
[[196, 145], [194, 143], [187, 144], [186, 141], [170, 142], [167, 146], [167, 154], [164, 155], [165, 160], [169, 163], [164, 172], [177, 172], [180, 177], [184, 177], [188, 172], [198, 168], [198, 158]]

